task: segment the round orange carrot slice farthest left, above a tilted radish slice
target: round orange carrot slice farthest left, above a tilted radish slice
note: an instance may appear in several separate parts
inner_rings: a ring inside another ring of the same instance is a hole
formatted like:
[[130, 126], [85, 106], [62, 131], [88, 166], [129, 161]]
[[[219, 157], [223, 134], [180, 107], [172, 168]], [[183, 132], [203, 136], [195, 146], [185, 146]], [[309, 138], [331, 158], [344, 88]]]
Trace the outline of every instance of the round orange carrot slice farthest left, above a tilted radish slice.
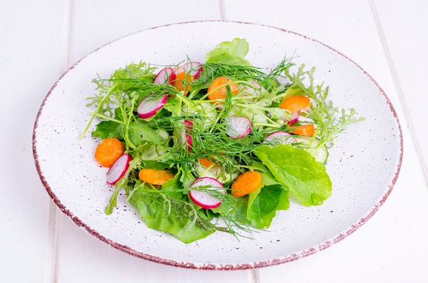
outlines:
[[122, 142], [114, 137], [103, 139], [95, 149], [94, 157], [103, 167], [111, 167], [124, 153]]

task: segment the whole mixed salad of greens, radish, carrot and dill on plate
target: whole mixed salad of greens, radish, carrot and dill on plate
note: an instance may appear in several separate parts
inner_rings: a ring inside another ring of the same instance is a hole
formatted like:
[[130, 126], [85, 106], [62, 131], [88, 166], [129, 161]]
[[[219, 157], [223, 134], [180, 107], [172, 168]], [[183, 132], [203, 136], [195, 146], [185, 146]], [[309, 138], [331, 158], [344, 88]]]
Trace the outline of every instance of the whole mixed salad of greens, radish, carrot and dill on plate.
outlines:
[[252, 237], [291, 199], [317, 206], [330, 198], [328, 150], [362, 118], [334, 107], [315, 68], [284, 57], [263, 72], [248, 51], [235, 38], [205, 62], [132, 63], [94, 79], [81, 137], [96, 121], [94, 157], [113, 187], [105, 213], [124, 191], [148, 228], [191, 243], [216, 231]]

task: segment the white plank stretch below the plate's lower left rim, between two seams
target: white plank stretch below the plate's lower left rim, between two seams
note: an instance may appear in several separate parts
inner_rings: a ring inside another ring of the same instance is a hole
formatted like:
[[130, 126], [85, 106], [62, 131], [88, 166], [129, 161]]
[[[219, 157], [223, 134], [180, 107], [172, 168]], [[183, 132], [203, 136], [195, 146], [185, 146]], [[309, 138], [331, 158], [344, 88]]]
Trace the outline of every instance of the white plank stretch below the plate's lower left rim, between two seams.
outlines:
[[234, 282], [254, 282], [252, 271], [201, 271], [136, 258], [90, 236], [65, 216], [62, 218], [58, 282], [217, 283], [230, 278]]

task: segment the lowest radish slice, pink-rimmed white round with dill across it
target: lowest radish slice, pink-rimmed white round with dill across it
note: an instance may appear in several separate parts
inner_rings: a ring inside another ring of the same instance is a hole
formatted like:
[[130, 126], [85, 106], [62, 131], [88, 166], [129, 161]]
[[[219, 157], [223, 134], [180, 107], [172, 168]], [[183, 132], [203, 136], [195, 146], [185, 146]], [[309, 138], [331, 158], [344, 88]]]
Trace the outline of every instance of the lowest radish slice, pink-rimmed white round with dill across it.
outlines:
[[222, 183], [211, 177], [197, 178], [190, 187], [195, 188], [189, 191], [190, 199], [204, 209], [215, 208], [222, 204], [222, 202], [218, 198], [210, 196], [208, 193], [204, 193], [204, 191], [200, 191], [197, 189], [198, 187], [204, 187], [205, 190], [217, 190], [219, 193], [226, 194], [226, 190]]

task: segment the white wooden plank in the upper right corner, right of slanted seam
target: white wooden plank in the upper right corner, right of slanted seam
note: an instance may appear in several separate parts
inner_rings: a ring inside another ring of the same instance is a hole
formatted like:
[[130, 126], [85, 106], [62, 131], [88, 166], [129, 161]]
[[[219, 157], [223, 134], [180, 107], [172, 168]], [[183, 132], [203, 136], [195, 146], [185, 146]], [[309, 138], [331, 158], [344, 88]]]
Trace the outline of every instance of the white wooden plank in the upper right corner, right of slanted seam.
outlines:
[[428, 96], [423, 84], [428, 66], [428, 2], [373, 0], [373, 12], [427, 178], [425, 105]]

